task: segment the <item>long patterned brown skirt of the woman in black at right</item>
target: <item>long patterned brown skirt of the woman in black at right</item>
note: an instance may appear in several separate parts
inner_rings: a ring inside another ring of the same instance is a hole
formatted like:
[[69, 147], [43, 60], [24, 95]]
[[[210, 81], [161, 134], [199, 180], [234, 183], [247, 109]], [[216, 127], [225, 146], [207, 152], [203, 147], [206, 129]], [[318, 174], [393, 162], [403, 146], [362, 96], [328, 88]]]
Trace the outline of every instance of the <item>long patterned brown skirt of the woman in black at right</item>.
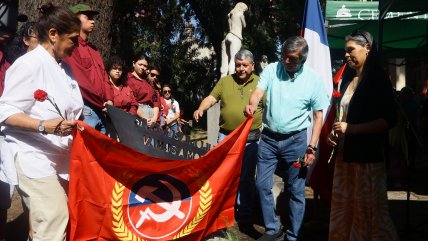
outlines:
[[389, 215], [383, 162], [346, 163], [339, 151], [334, 170], [328, 240], [399, 240]]

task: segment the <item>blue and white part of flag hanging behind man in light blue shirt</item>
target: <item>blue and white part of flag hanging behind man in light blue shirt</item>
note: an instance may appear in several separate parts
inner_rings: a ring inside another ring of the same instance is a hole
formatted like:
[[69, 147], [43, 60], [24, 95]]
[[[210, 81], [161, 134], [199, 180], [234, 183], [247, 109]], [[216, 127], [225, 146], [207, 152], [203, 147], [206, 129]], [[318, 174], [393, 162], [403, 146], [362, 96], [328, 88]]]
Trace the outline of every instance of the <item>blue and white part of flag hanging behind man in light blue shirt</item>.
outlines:
[[[318, 74], [323, 78], [323, 83], [325, 86], [325, 89], [327, 90], [327, 93], [329, 95], [329, 98], [331, 99], [331, 94], [333, 92], [333, 81], [332, 81], [332, 69], [331, 69], [331, 60], [330, 60], [330, 49], [328, 47], [328, 39], [327, 39], [327, 33], [324, 28], [324, 18], [321, 11], [321, 6], [318, 0], [306, 0], [305, 4], [305, 15], [303, 18], [303, 29], [302, 29], [303, 37], [306, 39], [309, 45], [309, 54], [308, 58], [305, 62], [305, 65], [311, 67], [314, 69]], [[323, 110], [324, 115], [324, 127], [331, 128], [331, 125], [333, 122], [326, 122], [326, 116], [329, 112], [329, 109]], [[328, 118], [327, 118], [328, 119]], [[333, 119], [334, 120], [334, 119]], [[308, 140], [310, 140], [312, 134], [312, 128], [308, 129]], [[323, 136], [320, 137], [320, 143], [323, 141], [322, 138], [325, 138]], [[320, 153], [323, 150], [320, 150], [318, 153]], [[324, 161], [324, 160], [321, 160]], [[325, 160], [327, 163], [327, 161]], [[325, 181], [324, 180], [311, 180], [313, 178], [312, 172], [314, 169], [319, 169], [319, 167], [316, 167], [318, 164], [315, 163], [312, 165], [308, 172], [308, 182], [311, 185], [313, 182], [317, 182], [318, 184], [321, 184], [324, 186]], [[334, 166], [333, 166], [334, 167]], [[331, 167], [329, 167], [331, 168]], [[326, 185], [330, 186], [330, 185]], [[312, 185], [311, 185], [312, 187]], [[314, 190], [317, 192], [314, 188]]]

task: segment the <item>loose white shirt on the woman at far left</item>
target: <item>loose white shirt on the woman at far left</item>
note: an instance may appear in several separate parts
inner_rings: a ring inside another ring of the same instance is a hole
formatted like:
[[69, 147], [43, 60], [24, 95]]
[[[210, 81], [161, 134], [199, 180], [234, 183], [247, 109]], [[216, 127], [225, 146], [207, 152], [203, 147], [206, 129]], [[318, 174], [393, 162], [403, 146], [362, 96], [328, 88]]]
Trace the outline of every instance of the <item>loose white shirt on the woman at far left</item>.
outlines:
[[[18, 113], [40, 120], [59, 117], [48, 100], [34, 99], [34, 91], [38, 89], [48, 93], [65, 118], [78, 119], [83, 99], [77, 82], [66, 71], [71, 73], [69, 66], [57, 63], [40, 45], [17, 59], [6, 72], [5, 89], [0, 98], [0, 123]], [[44, 135], [14, 126], [4, 126], [2, 132], [6, 135], [2, 148], [7, 150], [2, 149], [1, 159], [3, 162], [19, 160], [27, 177], [68, 173], [72, 136]]]

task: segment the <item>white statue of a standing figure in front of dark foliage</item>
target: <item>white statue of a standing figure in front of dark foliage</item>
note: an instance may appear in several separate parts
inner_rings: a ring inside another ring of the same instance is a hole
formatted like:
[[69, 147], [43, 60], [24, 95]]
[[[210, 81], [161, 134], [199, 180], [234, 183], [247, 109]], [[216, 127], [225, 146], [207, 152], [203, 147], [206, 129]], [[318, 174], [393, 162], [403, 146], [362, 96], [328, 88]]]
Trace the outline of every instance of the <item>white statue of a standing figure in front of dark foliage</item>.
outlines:
[[227, 15], [229, 33], [221, 42], [221, 77], [235, 73], [235, 54], [242, 46], [242, 29], [246, 26], [244, 12], [247, 10], [247, 5], [239, 2]]

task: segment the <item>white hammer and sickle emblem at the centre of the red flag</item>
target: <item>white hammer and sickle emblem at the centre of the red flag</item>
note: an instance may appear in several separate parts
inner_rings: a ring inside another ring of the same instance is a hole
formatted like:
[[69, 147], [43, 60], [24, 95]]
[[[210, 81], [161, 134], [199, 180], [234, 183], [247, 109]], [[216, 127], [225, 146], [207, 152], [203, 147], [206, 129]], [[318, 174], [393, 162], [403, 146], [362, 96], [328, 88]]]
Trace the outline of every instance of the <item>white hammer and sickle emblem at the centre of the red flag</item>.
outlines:
[[176, 201], [165, 202], [160, 197], [153, 194], [154, 191], [157, 190], [157, 187], [153, 186], [143, 186], [138, 190], [138, 192], [135, 195], [135, 199], [138, 200], [141, 203], [144, 203], [146, 199], [150, 199], [152, 202], [156, 203], [157, 205], [161, 206], [163, 209], [165, 209], [165, 212], [162, 214], [156, 214], [154, 213], [150, 208], [147, 208], [144, 211], [140, 211], [140, 219], [138, 220], [136, 227], [139, 228], [143, 224], [145, 220], [153, 219], [156, 222], [166, 222], [172, 217], [176, 216], [179, 219], [185, 218], [185, 215], [183, 212], [180, 211], [181, 207], [181, 194], [175, 188], [171, 183], [161, 181], [171, 192], [173, 195], [173, 199]]

